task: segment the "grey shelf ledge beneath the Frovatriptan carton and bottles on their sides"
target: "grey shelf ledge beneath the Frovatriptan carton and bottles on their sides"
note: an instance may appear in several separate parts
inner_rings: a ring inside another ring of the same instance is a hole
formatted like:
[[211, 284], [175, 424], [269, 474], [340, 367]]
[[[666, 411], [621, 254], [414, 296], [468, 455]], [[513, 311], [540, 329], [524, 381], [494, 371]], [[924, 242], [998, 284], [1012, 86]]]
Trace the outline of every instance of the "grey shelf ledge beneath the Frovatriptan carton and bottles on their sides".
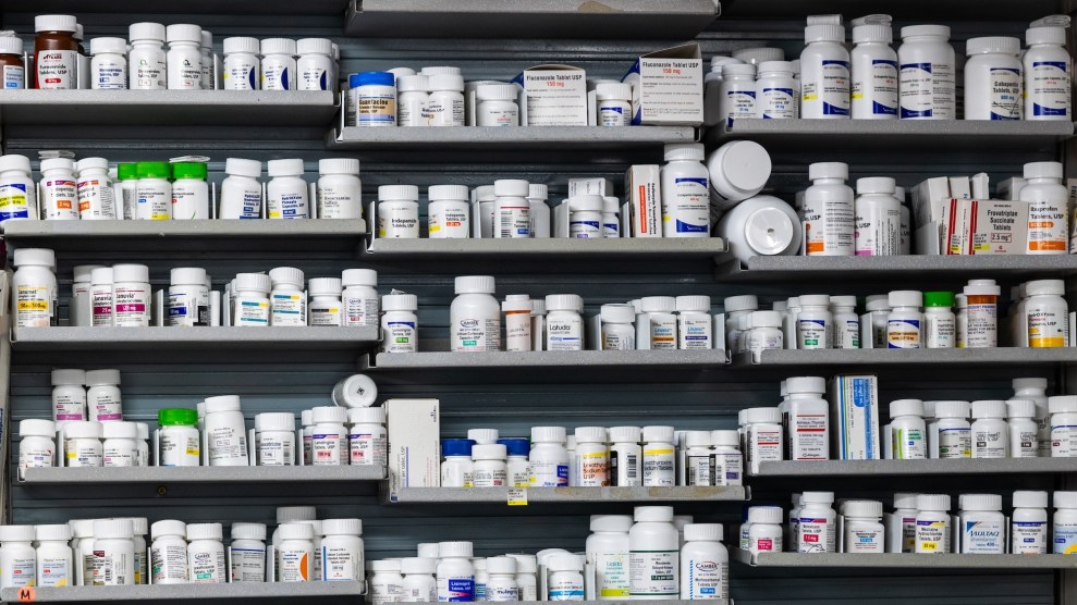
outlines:
[[893, 257], [752, 257], [732, 259], [714, 270], [719, 282], [843, 283], [880, 279], [1063, 279], [1077, 275], [1077, 255], [1053, 256], [893, 256]]

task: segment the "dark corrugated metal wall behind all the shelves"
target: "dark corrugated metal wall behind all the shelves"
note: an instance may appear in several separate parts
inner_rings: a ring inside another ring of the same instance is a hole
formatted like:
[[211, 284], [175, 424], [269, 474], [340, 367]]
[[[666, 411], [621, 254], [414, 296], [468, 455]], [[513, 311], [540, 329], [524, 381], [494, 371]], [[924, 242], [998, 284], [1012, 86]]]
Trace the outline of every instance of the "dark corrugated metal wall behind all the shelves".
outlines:
[[[640, 42], [590, 42], [576, 40], [417, 40], [401, 38], [354, 39], [342, 36], [342, 18], [333, 11], [338, 2], [311, 4], [309, 14], [274, 14], [283, 3], [259, 5], [231, 2], [237, 15], [145, 15], [120, 7], [97, 7], [95, 13], [77, 13], [86, 25], [87, 37], [125, 35], [126, 25], [136, 21], [162, 23], [195, 22], [211, 29], [216, 47], [223, 37], [329, 36], [341, 45], [344, 73], [388, 69], [454, 64], [468, 79], [509, 78], [521, 67], [563, 62], [585, 67], [593, 77], [620, 77], [640, 52], [654, 50], [680, 40]], [[705, 57], [726, 54], [735, 48], [778, 45], [791, 55], [799, 52], [803, 17], [806, 11], [818, 13], [836, 9], [846, 20], [868, 12], [901, 11], [896, 26], [929, 17], [944, 18], [954, 27], [955, 38], [975, 35], [1020, 35], [1027, 21], [1056, 10], [1054, 2], [1036, 0], [1011, 5], [1005, 2], [913, 1], [902, 5], [888, 2], [816, 2], [792, 0], [752, 2], [742, 0], [725, 9], [726, 16], [702, 34], [698, 41]], [[96, 7], [96, 4], [95, 4]], [[297, 4], [298, 7], [298, 4]], [[81, 10], [79, 3], [30, 2], [3, 9], [2, 25], [29, 38], [33, 13], [46, 10]], [[23, 12], [24, 10], [30, 12]], [[161, 9], [149, 9], [155, 12]], [[280, 12], [280, 11], [277, 11]], [[295, 9], [286, 12], [295, 13]], [[1013, 14], [1017, 12], [1018, 14]], [[739, 16], [738, 16], [739, 15]], [[896, 27], [895, 27], [896, 30]], [[513, 38], [511, 24], [506, 38]], [[451, 35], [446, 27], [446, 35]], [[960, 45], [958, 48], [963, 48]], [[308, 176], [317, 171], [317, 160], [338, 156], [325, 150], [325, 132], [310, 128], [102, 128], [74, 131], [62, 127], [19, 127], [4, 125], [7, 152], [36, 155], [42, 148], [66, 148], [78, 157], [100, 155], [113, 161], [164, 159], [179, 153], [206, 153], [212, 157], [213, 178], [221, 178], [223, 160], [229, 156], [260, 160], [302, 157]], [[806, 165], [810, 161], [842, 160], [850, 163], [854, 177], [893, 175], [902, 185], [911, 185], [926, 175], [970, 174], [987, 171], [993, 180], [1017, 174], [1027, 161], [1056, 157], [1054, 150], [1035, 155], [983, 153], [968, 149], [945, 153], [929, 149], [914, 153], [890, 150], [850, 152], [833, 149], [827, 140], [807, 151], [774, 151], [775, 174], [771, 188], [788, 196], [804, 186]], [[620, 183], [624, 163], [591, 158], [576, 161], [577, 153], [535, 157], [527, 162], [497, 157], [481, 163], [461, 163], [452, 149], [421, 153], [343, 153], [364, 160], [364, 189], [372, 195], [378, 185], [416, 184], [424, 187], [439, 183], [477, 185], [498, 177], [524, 177], [547, 183], [553, 195], [563, 195], [574, 175], [609, 176]], [[660, 151], [640, 153], [636, 162], [658, 162]], [[620, 186], [620, 185], [619, 185]], [[74, 251], [60, 258], [60, 276], [66, 291], [71, 268], [85, 262], [136, 261], [150, 264], [152, 279], [166, 284], [168, 269], [181, 266], [206, 267], [215, 283], [222, 284], [238, 271], [268, 270], [292, 264], [308, 276], [338, 274], [341, 269], [359, 266], [354, 257], [339, 254], [309, 254], [282, 249], [273, 255], [219, 254], [211, 249], [171, 254], [152, 250], [146, 254], [99, 254]], [[419, 295], [423, 337], [443, 338], [446, 332], [448, 305], [452, 299], [452, 277], [457, 274], [492, 273], [498, 279], [498, 295], [528, 293], [540, 296], [571, 292], [585, 297], [588, 311], [608, 301], [623, 301], [646, 295], [708, 294], [715, 310], [721, 298], [731, 294], [758, 293], [766, 301], [808, 292], [831, 294], [873, 294], [893, 289], [886, 280], [877, 283], [782, 283], [730, 285], [715, 283], [709, 261], [609, 262], [591, 266], [579, 262], [551, 262], [533, 271], [513, 267], [500, 259], [464, 261], [371, 262], [362, 266], [379, 271], [380, 289], [397, 287]], [[960, 275], [928, 283], [914, 280], [903, 287], [928, 289], [932, 286], [955, 288], [964, 283]], [[20, 355], [16, 351], [11, 375], [12, 420], [47, 417], [49, 413], [49, 370], [54, 367], [119, 367], [123, 373], [125, 416], [152, 420], [162, 406], [193, 406], [201, 397], [237, 393], [243, 396], [248, 417], [267, 410], [297, 411], [328, 403], [332, 385], [354, 372], [356, 359], [325, 354], [295, 354], [289, 350], [260, 351], [246, 359], [210, 353], [201, 358], [178, 355], [162, 347], [148, 356], [119, 351], [85, 355]], [[830, 373], [830, 370], [827, 370]], [[810, 372], [808, 372], [810, 373]], [[778, 403], [778, 381], [787, 372], [737, 371], [664, 371], [658, 368], [633, 376], [595, 370], [578, 372], [571, 380], [552, 370], [536, 370], [525, 376], [454, 375], [451, 372], [394, 373], [378, 378], [383, 396], [436, 396], [444, 404], [443, 434], [460, 436], [467, 428], [497, 427], [503, 434], [526, 434], [530, 425], [563, 423], [570, 427], [614, 423], [673, 423], [681, 428], [732, 428], [736, 410], [754, 405]], [[1045, 375], [1052, 387], [1061, 391], [1064, 376], [1055, 368], [1039, 371], [993, 368], [990, 373], [977, 370], [932, 371], [897, 370], [880, 372], [883, 399], [923, 398], [1004, 398], [1008, 382], [1016, 375]], [[522, 380], [516, 380], [522, 379]], [[1050, 478], [989, 479], [834, 479], [812, 482], [773, 480], [757, 483], [756, 499], [785, 503], [788, 492], [800, 489], [834, 490], [840, 497], [870, 496], [886, 498], [894, 491], [945, 490], [952, 493], [986, 491], [1006, 493], [1019, 487], [1052, 489]], [[316, 493], [317, 495], [310, 495]], [[317, 505], [321, 517], [359, 516], [371, 557], [400, 556], [412, 552], [414, 544], [437, 540], [474, 540], [484, 555], [509, 550], [535, 551], [551, 546], [582, 548], [587, 535], [587, 515], [591, 513], [629, 513], [627, 506], [541, 507], [509, 510], [501, 506], [419, 506], [378, 504], [371, 486], [307, 490], [304, 486], [240, 489], [231, 486], [147, 485], [137, 487], [35, 487], [16, 486], [11, 505], [15, 522], [62, 521], [73, 517], [143, 515], [151, 520], [180, 518], [187, 521], [215, 520], [272, 521], [279, 505]], [[699, 504], [677, 507], [697, 518], [735, 523], [741, 507], [735, 504]], [[492, 531], [491, 531], [492, 530]], [[732, 531], [730, 532], [732, 535]], [[1060, 603], [1055, 593], [1056, 577], [1050, 572], [993, 571], [990, 575], [846, 570], [749, 569], [733, 564], [733, 595], [738, 603], [764, 605], [798, 601], [803, 603], [877, 602], [932, 604], [1050, 604]]]

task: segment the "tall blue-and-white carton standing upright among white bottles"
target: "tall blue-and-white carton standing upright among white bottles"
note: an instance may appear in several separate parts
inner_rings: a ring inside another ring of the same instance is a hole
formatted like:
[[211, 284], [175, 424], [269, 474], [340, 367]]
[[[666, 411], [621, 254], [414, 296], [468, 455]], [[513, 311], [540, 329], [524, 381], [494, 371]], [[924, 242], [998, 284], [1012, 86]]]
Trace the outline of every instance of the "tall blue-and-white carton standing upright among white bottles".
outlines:
[[878, 382], [873, 375], [836, 375], [831, 380], [831, 433], [837, 459], [881, 459]]

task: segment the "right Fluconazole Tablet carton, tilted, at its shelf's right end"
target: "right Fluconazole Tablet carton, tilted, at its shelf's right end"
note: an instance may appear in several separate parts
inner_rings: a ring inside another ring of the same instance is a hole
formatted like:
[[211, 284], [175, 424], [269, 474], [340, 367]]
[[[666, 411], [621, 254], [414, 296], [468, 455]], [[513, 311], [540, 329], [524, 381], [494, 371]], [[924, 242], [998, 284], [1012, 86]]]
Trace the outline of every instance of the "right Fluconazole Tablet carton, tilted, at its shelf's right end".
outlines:
[[703, 123], [703, 60], [699, 45], [683, 45], [636, 60], [622, 82], [632, 84], [632, 123]]

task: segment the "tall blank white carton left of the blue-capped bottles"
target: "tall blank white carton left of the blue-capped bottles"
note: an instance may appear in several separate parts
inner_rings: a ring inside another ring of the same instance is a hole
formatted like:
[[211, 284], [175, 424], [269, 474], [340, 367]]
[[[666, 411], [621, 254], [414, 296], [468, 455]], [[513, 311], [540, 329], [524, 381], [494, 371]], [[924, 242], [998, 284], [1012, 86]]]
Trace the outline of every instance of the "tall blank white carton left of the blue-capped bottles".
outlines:
[[403, 487], [441, 485], [441, 409], [438, 399], [384, 403], [389, 437], [389, 498]]

